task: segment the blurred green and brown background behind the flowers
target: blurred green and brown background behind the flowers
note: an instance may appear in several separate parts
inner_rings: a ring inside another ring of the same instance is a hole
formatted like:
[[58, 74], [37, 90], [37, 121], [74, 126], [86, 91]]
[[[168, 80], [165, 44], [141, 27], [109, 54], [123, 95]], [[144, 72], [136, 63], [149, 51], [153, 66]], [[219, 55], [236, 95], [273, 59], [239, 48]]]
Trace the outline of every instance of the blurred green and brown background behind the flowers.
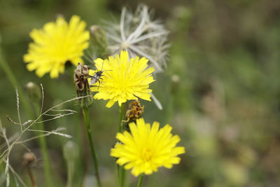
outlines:
[[[280, 1], [2, 0], [2, 55], [22, 88], [29, 81], [43, 84], [44, 109], [49, 109], [75, 97], [73, 68], [58, 79], [49, 74], [38, 78], [27, 71], [22, 55], [31, 42], [31, 29], [55, 21], [57, 15], [69, 20], [74, 14], [89, 28], [101, 19], [118, 20], [123, 6], [133, 10], [139, 3], [154, 9], [155, 18], [169, 29], [172, 45], [167, 69], [151, 84], [163, 110], [153, 102], [141, 101], [144, 118], [147, 123], [157, 120], [161, 126], [172, 125], [172, 133], [181, 137], [179, 146], [186, 147], [179, 165], [146, 177], [144, 186], [280, 186]], [[15, 86], [2, 67], [0, 73], [0, 118], [11, 136], [18, 131], [6, 120], [7, 115], [13, 119], [18, 115]], [[105, 104], [94, 102], [90, 120], [102, 181], [104, 186], [115, 186], [116, 169], [109, 151], [115, 142], [118, 106], [107, 109]], [[80, 156], [74, 186], [91, 183], [93, 167], [83, 116], [75, 102], [64, 109], [78, 113], [45, 123], [45, 129], [67, 128]], [[29, 119], [23, 109], [21, 113], [22, 120]], [[62, 148], [66, 139], [55, 135], [46, 139], [56, 186], [64, 186], [67, 168]], [[27, 146], [41, 158], [37, 141]], [[22, 167], [24, 152], [16, 147], [10, 162], [29, 183]], [[43, 183], [42, 167], [34, 167], [37, 183]], [[130, 186], [136, 186], [137, 178], [129, 178]], [[5, 186], [3, 179], [0, 182]]]

